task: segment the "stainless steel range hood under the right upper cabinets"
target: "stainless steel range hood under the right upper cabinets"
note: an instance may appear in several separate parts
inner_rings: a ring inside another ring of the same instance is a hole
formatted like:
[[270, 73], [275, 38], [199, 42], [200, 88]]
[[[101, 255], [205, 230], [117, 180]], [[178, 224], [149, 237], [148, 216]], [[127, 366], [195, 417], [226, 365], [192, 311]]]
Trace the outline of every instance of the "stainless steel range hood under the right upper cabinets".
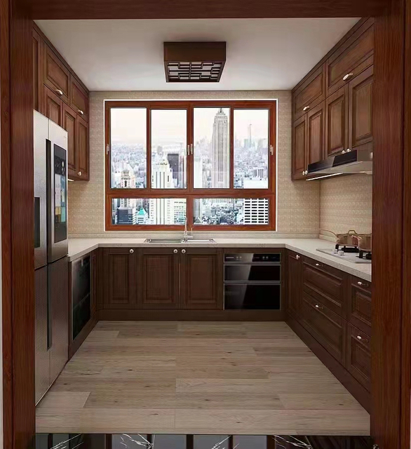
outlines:
[[372, 151], [370, 149], [354, 149], [352, 151], [347, 149], [336, 156], [310, 163], [308, 166], [309, 180], [351, 173], [372, 174]]

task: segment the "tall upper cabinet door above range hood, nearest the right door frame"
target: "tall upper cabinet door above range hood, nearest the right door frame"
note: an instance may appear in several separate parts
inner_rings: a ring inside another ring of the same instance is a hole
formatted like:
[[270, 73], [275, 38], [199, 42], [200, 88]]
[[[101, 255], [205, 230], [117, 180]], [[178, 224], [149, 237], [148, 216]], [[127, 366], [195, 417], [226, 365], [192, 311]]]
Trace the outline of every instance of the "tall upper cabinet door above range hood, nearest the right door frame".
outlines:
[[372, 79], [368, 67], [349, 83], [349, 148], [372, 145]]

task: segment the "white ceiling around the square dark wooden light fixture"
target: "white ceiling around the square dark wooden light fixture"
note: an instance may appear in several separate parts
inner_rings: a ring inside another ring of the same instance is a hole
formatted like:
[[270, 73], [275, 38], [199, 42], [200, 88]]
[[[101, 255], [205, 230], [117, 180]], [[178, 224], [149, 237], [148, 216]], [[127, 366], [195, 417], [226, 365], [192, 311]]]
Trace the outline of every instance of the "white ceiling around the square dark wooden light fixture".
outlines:
[[[90, 91], [290, 89], [358, 21], [37, 20]], [[220, 83], [166, 83], [164, 41], [227, 41]]]

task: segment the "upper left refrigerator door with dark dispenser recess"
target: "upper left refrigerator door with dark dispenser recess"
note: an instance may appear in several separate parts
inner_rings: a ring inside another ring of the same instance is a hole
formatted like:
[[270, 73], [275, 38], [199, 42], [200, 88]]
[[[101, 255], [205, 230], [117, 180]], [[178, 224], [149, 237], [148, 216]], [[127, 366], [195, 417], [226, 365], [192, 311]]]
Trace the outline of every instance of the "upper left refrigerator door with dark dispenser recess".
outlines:
[[47, 164], [48, 118], [34, 111], [34, 267], [47, 264]]

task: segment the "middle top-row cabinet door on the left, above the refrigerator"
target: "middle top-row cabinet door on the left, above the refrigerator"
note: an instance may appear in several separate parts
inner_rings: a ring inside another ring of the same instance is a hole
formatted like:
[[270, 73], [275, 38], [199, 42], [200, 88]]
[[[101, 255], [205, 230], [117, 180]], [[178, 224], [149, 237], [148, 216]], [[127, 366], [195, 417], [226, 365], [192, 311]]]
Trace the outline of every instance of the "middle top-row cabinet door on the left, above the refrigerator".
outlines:
[[69, 104], [70, 72], [60, 58], [46, 44], [44, 50], [44, 84]]

